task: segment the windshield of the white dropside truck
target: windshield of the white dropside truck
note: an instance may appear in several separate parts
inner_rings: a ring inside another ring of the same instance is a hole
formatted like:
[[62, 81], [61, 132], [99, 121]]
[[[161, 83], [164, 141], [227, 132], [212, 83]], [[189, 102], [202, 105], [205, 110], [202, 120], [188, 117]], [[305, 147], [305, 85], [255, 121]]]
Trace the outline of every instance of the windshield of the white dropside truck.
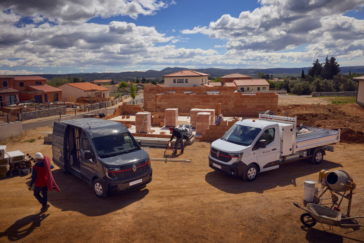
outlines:
[[260, 131], [260, 128], [234, 124], [221, 139], [230, 143], [249, 146], [253, 143]]

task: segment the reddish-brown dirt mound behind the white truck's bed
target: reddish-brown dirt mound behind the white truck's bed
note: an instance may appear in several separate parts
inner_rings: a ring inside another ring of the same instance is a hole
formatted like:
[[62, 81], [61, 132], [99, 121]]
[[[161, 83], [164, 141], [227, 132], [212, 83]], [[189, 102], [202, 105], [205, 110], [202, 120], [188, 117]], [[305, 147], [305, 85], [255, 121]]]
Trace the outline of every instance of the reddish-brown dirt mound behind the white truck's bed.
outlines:
[[278, 115], [297, 116], [297, 124], [331, 130], [341, 129], [340, 142], [364, 143], [364, 109], [357, 104], [284, 105]]

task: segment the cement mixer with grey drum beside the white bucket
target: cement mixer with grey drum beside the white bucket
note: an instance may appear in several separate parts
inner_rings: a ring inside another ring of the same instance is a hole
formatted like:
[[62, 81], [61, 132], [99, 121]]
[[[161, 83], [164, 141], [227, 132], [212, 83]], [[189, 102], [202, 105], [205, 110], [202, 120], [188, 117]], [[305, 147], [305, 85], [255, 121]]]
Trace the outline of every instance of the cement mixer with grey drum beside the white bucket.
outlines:
[[[340, 212], [339, 207], [341, 202], [343, 202], [343, 199], [347, 199], [347, 216], [349, 216], [353, 190], [356, 188], [356, 184], [353, 182], [351, 176], [343, 170], [336, 170], [332, 172], [328, 170], [321, 170], [318, 175], [318, 183], [321, 184], [321, 190], [318, 193], [318, 196], [313, 197], [314, 203], [319, 205], [332, 204], [329, 208]], [[327, 191], [331, 193], [330, 198], [324, 198], [324, 194]], [[339, 196], [341, 197], [340, 201]], [[324, 203], [327, 202], [326, 200], [330, 199], [332, 203]]]

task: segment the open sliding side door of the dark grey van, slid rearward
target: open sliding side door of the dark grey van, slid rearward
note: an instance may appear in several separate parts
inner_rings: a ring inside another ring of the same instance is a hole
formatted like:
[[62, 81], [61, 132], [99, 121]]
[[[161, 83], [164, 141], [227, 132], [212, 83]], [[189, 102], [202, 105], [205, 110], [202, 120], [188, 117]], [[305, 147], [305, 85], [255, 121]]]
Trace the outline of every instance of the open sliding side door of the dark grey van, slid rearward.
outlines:
[[67, 155], [68, 152], [67, 144], [65, 143], [67, 140], [66, 129], [67, 125], [59, 122], [55, 122], [53, 125], [52, 160], [61, 169], [65, 169], [64, 156]]

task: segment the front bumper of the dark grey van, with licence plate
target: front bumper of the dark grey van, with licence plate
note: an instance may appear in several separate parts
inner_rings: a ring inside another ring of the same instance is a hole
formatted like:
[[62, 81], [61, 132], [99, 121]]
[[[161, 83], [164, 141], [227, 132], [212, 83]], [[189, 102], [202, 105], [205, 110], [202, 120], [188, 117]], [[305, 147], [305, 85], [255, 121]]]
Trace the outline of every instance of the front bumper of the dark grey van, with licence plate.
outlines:
[[107, 185], [107, 194], [115, 194], [119, 192], [125, 192], [133, 190], [135, 188], [144, 186], [152, 181], [152, 168], [145, 171], [143, 174], [135, 175], [134, 177], [125, 178], [125, 180], [104, 180]]

